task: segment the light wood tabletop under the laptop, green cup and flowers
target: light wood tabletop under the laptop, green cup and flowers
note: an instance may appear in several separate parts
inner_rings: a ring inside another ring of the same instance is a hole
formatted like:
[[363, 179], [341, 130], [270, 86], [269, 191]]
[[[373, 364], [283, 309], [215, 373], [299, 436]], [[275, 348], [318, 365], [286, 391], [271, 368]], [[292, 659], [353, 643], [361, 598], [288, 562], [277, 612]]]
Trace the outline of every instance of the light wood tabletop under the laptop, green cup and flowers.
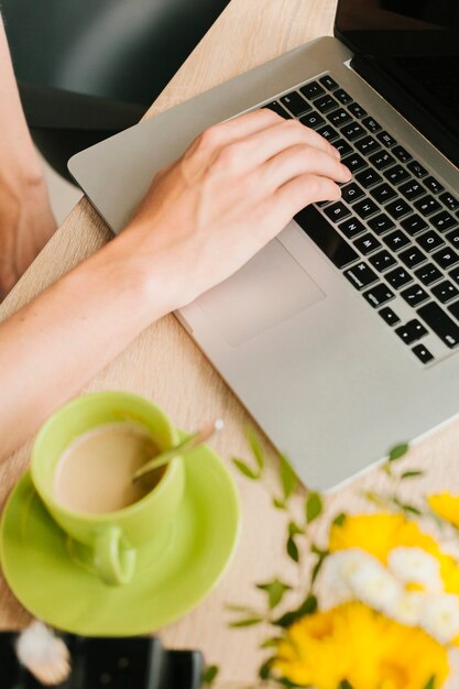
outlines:
[[[332, 34], [335, 9], [336, 0], [232, 0], [147, 117], [306, 41]], [[109, 238], [103, 221], [83, 199], [1, 305], [0, 317], [8, 317]], [[152, 325], [86, 387], [108, 389], [130, 390], [153, 398], [177, 426], [189, 430], [203, 419], [221, 416], [226, 419], [226, 429], [214, 447], [227, 460], [232, 456], [249, 456], [242, 431], [250, 423], [248, 413], [173, 316]], [[273, 473], [275, 452], [265, 439], [264, 445]], [[413, 451], [413, 461], [416, 466], [435, 462], [435, 486], [453, 486], [456, 482], [458, 488], [459, 472], [455, 464], [458, 450], [459, 425], [452, 424], [419, 444]], [[0, 468], [1, 504], [25, 469], [29, 451], [30, 442]], [[274, 575], [288, 578], [289, 565], [283, 555], [284, 521], [270, 506], [269, 491], [263, 485], [236, 478], [243, 504], [243, 528], [230, 570], [197, 610], [164, 630], [162, 636], [170, 646], [201, 648], [208, 663], [222, 666], [222, 678], [250, 680], [260, 661], [259, 632], [256, 628], [228, 630], [225, 603], [259, 601], [253, 583], [266, 581]], [[378, 480], [373, 472], [360, 480], [359, 485], [374, 484]], [[330, 497], [334, 508], [337, 505], [352, 507], [349, 503], [356, 483]], [[18, 627], [28, 621], [28, 613], [0, 580], [0, 626]]]

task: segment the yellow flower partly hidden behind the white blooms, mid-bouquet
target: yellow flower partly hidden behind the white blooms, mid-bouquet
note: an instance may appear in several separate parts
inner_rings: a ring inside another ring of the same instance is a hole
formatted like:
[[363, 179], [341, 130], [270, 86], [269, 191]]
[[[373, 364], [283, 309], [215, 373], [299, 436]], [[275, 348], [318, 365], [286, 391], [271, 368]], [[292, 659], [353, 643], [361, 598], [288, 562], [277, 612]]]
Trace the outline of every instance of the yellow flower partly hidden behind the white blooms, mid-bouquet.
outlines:
[[429, 553], [438, 560], [445, 591], [459, 594], [459, 567], [456, 560], [441, 553], [437, 542], [404, 515], [385, 512], [358, 514], [347, 516], [342, 524], [334, 524], [330, 529], [331, 553], [361, 548], [387, 565], [390, 553], [398, 547], [422, 548]]

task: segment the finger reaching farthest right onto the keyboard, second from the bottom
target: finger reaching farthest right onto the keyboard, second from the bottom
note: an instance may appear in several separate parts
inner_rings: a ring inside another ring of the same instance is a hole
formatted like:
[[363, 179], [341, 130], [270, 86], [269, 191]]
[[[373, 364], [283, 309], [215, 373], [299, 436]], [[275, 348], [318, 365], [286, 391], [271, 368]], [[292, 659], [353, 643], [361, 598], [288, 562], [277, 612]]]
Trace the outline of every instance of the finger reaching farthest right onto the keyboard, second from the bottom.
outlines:
[[261, 173], [269, 189], [303, 175], [328, 177], [341, 184], [352, 178], [350, 171], [335, 156], [305, 144], [282, 151], [262, 166]]

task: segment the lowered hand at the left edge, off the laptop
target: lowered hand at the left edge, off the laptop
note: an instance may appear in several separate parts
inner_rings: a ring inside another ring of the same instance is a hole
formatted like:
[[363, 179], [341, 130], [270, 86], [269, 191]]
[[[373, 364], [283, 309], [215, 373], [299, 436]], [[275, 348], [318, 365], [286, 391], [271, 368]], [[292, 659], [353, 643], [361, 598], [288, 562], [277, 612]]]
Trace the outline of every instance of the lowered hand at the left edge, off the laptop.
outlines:
[[40, 173], [0, 172], [0, 302], [56, 229]]

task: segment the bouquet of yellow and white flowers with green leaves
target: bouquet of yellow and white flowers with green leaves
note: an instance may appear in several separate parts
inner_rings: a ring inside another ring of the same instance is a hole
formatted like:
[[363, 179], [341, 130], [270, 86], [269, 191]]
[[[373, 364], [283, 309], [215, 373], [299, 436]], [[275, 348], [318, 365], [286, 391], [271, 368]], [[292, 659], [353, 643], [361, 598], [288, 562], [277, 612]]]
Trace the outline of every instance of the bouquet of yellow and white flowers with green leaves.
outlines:
[[[254, 459], [233, 462], [255, 481], [264, 475], [264, 458], [253, 433], [249, 440]], [[275, 578], [258, 584], [265, 593], [261, 609], [229, 606], [237, 615], [231, 626], [266, 625], [262, 685], [444, 686], [459, 646], [459, 562], [450, 547], [440, 545], [440, 536], [445, 540], [447, 534], [450, 543], [456, 538], [459, 496], [429, 494], [416, 504], [404, 502], [405, 483], [423, 475], [406, 468], [407, 450], [407, 445], [392, 449], [381, 467], [384, 492], [365, 491], [353, 514], [330, 515], [324, 496], [305, 494], [281, 458], [273, 505], [285, 513], [285, 549], [298, 567], [299, 583]], [[216, 672], [209, 669], [210, 677]]]

